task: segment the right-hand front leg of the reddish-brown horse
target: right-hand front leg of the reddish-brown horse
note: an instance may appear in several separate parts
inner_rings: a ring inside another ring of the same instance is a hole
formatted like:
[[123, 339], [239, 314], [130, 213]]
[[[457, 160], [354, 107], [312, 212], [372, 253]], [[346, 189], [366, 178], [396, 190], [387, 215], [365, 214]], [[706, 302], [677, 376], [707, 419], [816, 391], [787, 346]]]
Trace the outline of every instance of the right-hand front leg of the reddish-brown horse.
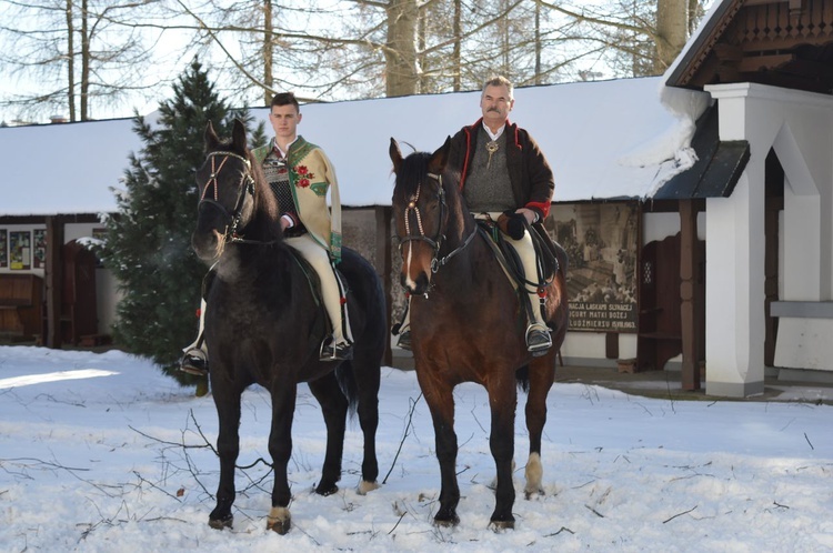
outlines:
[[[500, 369], [496, 369], [500, 370]], [[490, 525], [494, 529], [513, 529], [515, 517], [512, 505], [515, 502], [515, 489], [512, 484], [512, 456], [515, 450], [515, 408], [518, 391], [511, 375], [495, 379], [488, 386], [489, 404], [492, 406], [492, 429], [489, 448], [494, 458], [498, 485], [494, 492], [494, 512]]]

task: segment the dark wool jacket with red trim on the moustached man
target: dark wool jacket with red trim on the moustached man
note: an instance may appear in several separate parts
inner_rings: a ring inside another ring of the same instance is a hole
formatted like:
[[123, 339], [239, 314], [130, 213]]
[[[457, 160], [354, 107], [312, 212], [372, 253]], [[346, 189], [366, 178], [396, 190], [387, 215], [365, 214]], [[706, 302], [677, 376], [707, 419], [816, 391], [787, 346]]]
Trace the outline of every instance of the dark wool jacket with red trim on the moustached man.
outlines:
[[[460, 190], [465, 187], [469, 164], [474, 159], [478, 134], [483, 119], [471, 127], [463, 127], [451, 139], [449, 167], [460, 171]], [[535, 211], [543, 220], [550, 213], [555, 180], [546, 158], [530, 133], [506, 121], [506, 163], [512, 193], [519, 208]]]

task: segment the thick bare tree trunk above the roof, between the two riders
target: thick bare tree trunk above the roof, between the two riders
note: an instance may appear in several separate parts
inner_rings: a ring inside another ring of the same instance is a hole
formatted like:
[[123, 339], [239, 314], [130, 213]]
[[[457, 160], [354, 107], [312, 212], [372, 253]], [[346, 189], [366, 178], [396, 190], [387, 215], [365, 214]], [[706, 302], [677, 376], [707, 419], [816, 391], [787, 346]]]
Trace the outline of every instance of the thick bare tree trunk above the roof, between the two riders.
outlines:
[[416, 0], [391, 0], [388, 11], [388, 44], [384, 51], [387, 61], [388, 97], [415, 94], [419, 91], [419, 69], [416, 63]]

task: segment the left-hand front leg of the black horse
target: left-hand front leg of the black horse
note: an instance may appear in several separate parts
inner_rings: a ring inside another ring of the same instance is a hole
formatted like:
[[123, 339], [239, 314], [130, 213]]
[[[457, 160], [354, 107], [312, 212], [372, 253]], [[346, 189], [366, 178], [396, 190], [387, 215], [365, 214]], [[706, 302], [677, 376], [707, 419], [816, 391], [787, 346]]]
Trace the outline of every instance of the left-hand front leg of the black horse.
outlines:
[[[217, 372], [220, 372], [219, 370]], [[234, 503], [234, 465], [240, 453], [240, 392], [231, 390], [228, 382], [217, 383], [212, 373], [214, 405], [219, 419], [217, 452], [220, 456], [220, 483], [217, 489], [217, 506], [209, 515], [213, 529], [231, 527], [234, 520], [231, 505]]]

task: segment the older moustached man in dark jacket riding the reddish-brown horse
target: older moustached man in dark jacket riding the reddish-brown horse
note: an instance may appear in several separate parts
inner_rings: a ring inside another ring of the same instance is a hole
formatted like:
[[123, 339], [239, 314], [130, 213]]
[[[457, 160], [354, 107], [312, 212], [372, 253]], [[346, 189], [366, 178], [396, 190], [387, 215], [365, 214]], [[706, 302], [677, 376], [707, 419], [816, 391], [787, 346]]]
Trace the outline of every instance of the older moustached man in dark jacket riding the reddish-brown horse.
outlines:
[[[542, 222], [550, 212], [555, 182], [538, 143], [524, 129], [509, 122], [513, 89], [504, 77], [485, 82], [480, 98], [483, 117], [451, 139], [449, 167], [460, 171], [460, 187], [475, 218], [508, 222], [499, 224], [503, 238], [518, 252], [525, 280], [534, 282], [538, 260], [526, 229]], [[536, 286], [522, 285], [532, 308], [526, 348], [533, 355], [543, 355], [552, 346], [550, 329], [539, 309]], [[402, 326], [398, 343], [410, 349], [410, 329], [407, 322]]]

